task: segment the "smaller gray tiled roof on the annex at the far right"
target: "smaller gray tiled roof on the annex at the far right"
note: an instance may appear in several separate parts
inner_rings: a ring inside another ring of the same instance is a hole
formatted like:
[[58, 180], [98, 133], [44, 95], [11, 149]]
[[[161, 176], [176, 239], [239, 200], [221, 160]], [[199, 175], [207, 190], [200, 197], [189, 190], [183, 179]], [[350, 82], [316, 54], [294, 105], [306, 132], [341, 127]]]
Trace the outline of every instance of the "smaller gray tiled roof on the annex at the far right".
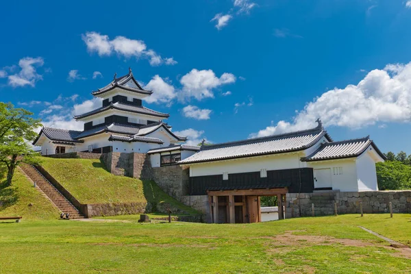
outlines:
[[366, 136], [365, 138], [360, 139], [324, 143], [311, 155], [308, 155], [305, 158], [301, 158], [301, 161], [312, 162], [321, 160], [354, 158], [361, 155], [370, 146], [373, 146], [375, 152], [377, 152], [382, 159], [386, 160], [386, 156], [381, 151], [379, 151], [373, 140], [370, 140], [369, 136]]

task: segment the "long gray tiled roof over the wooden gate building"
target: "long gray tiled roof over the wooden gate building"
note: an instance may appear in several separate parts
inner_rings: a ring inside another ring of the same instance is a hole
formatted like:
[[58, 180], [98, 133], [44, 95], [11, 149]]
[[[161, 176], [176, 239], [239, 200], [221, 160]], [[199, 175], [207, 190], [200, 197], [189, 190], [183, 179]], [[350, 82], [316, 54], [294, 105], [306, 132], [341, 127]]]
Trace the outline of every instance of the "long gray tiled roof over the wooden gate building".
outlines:
[[318, 142], [323, 136], [325, 136], [327, 140], [332, 141], [323, 127], [319, 126], [301, 132], [291, 132], [288, 134], [241, 140], [238, 142], [203, 146], [199, 152], [179, 161], [179, 164], [301, 151], [312, 147], [312, 145]]

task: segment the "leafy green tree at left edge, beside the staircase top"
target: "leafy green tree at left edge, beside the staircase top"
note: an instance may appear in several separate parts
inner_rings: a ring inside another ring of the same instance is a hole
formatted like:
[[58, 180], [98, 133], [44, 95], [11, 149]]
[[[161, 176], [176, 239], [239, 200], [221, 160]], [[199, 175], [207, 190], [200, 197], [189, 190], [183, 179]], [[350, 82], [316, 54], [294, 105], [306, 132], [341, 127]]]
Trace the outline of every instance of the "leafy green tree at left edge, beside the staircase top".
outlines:
[[23, 108], [14, 108], [12, 103], [0, 102], [0, 163], [7, 168], [7, 186], [12, 184], [16, 167], [21, 162], [37, 162], [32, 147], [27, 143], [34, 140], [34, 131], [41, 126], [40, 120]]

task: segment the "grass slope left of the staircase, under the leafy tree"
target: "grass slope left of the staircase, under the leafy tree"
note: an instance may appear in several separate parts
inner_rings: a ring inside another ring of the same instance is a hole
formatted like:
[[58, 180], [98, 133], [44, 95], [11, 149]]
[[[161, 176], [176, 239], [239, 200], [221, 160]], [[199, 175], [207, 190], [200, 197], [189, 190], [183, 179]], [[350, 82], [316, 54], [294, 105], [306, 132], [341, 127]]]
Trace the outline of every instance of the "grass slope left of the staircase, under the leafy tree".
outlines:
[[3, 202], [0, 216], [23, 216], [23, 220], [58, 219], [60, 216], [58, 209], [18, 170], [14, 173], [12, 186], [5, 187], [5, 182], [0, 184], [0, 201]]

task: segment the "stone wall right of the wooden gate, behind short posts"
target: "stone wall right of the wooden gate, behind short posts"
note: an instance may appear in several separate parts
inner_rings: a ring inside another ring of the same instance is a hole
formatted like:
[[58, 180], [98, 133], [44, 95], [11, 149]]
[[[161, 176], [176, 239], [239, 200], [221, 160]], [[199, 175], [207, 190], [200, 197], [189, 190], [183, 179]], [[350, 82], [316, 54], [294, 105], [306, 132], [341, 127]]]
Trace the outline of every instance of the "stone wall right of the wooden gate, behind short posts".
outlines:
[[[364, 213], [388, 213], [389, 203], [394, 213], [411, 213], [411, 191], [324, 191], [313, 193], [287, 193], [286, 218], [298, 216], [325, 216], [334, 214], [337, 203], [338, 214], [360, 213], [360, 202]], [[301, 213], [301, 214], [300, 214]]]

